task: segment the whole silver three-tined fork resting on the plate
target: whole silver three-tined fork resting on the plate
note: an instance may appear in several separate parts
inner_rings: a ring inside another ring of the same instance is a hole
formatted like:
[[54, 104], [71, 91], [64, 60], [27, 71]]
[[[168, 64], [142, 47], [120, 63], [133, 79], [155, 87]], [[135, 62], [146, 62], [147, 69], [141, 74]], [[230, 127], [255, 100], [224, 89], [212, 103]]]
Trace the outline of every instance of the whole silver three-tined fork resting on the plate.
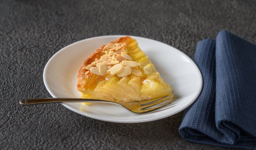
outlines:
[[66, 102], [100, 102], [116, 104], [135, 114], [148, 114], [172, 104], [172, 99], [166, 95], [157, 99], [143, 100], [142, 102], [117, 103], [99, 99], [75, 99], [75, 98], [45, 98], [45, 99], [22, 99], [21, 105], [34, 105], [46, 103], [66, 103]]

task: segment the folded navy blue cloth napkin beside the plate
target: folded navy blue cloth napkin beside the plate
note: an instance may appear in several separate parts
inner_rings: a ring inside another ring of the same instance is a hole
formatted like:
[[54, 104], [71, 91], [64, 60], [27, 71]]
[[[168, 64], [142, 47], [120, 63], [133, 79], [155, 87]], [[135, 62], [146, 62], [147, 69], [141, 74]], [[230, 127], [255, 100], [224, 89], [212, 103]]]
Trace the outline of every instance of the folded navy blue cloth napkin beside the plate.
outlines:
[[224, 30], [197, 43], [194, 61], [203, 89], [184, 111], [181, 137], [256, 149], [256, 45]]

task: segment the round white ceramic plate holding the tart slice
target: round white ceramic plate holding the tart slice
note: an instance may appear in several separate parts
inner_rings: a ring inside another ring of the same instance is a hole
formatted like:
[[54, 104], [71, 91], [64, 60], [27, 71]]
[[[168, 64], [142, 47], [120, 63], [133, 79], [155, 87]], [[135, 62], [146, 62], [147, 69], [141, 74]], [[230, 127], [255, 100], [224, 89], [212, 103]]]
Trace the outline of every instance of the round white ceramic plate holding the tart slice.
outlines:
[[[80, 98], [76, 90], [76, 77], [84, 59], [101, 45], [122, 36], [99, 36], [70, 44], [47, 62], [44, 68], [44, 84], [54, 98]], [[196, 64], [186, 54], [176, 48], [152, 39], [131, 36], [139, 43], [141, 50], [153, 62], [156, 70], [173, 88], [177, 97], [173, 105], [143, 115], [133, 114], [126, 109], [103, 103], [84, 105], [65, 103], [68, 109], [98, 120], [108, 122], [148, 122], [179, 113], [192, 104], [201, 92], [203, 80]]]

